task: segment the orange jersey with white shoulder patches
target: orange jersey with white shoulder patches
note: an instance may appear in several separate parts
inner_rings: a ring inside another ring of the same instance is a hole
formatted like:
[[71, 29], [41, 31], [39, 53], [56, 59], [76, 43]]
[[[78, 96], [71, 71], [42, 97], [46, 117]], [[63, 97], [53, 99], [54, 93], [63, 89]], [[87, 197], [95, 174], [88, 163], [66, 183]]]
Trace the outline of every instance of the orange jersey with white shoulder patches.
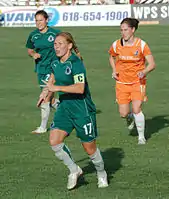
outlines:
[[119, 82], [132, 84], [139, 82], [138, 72], [145, 68], [145, 56], [150, 55], [148, 45], [136, 38], [133, 46], [122, 46], [121, 39], [113, 42], [109, 54], [116, 57], [116, 72], [119, 75]]

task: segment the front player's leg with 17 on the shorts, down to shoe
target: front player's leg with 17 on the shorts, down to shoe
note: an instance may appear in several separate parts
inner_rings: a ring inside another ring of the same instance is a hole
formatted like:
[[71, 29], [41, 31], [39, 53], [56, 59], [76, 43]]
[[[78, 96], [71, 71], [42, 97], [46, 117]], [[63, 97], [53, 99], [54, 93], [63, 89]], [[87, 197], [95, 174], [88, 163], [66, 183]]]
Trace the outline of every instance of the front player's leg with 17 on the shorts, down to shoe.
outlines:
[[77, 137], [81, 139], [83, 148], [97, 171], [98, 187], [107, 187], [107, 173], [104, 168], [104, 161], [95, 141], [97, 137], [96, 115], [92, 114], [88, 117], [77, 119], [74, 122]]

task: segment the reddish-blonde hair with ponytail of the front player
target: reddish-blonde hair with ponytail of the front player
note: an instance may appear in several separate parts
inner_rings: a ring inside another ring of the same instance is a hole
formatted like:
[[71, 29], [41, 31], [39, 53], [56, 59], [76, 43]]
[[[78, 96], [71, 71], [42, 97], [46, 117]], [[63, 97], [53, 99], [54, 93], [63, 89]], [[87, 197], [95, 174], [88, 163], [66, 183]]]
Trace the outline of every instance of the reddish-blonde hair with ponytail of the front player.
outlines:
[[72, 35], [69, 33], [69, 32], [60, 32], [56, 37], [58, 36], [62, 36], [66, 39], [66, 41], [68, 43], [72, 43], [72, 49], [75, 51], [76, 55], [81, 59], [83, 60], [81, 54], [80, 54], [80, 51], [76, 45], [76, 42], [75, 40], [73, 39]]

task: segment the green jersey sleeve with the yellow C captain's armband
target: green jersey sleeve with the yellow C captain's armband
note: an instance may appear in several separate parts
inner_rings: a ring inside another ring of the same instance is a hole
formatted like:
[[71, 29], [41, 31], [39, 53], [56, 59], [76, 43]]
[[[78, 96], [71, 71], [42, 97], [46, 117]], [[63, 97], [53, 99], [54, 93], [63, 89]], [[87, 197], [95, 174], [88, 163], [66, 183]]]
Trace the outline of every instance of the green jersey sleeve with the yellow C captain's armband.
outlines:
[[86, 70], [81, 60], [78, 60], [73, 63], [72, 75], [74, 83], [85, 83], [86, 79]]

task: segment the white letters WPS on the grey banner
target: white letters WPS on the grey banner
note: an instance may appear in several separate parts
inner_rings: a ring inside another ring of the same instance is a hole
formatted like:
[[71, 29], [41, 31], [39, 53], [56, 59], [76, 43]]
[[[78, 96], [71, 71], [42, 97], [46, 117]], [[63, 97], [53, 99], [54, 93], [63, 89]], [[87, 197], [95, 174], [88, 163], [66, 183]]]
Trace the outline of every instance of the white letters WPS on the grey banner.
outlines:
[[152, 7], [134, 7], [134, 16], [137, 19], [148, 19], [149, 17], [155, 19], [158, 17], [158, 8], [156, 6]]

